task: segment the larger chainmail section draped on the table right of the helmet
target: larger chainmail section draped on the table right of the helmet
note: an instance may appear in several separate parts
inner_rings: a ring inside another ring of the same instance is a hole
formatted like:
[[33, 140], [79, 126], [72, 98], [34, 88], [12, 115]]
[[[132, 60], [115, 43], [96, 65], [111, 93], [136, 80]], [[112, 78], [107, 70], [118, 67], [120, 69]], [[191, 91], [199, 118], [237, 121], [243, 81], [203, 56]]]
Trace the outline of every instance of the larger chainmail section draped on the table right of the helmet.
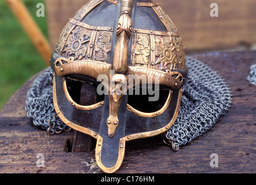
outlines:
[[204, 134], [231, 106], [231, 90], [213, 69], [187, 57], [189, 74], [181, 99], [180, 113], [164, 142], [177, 151], [181, 145]]

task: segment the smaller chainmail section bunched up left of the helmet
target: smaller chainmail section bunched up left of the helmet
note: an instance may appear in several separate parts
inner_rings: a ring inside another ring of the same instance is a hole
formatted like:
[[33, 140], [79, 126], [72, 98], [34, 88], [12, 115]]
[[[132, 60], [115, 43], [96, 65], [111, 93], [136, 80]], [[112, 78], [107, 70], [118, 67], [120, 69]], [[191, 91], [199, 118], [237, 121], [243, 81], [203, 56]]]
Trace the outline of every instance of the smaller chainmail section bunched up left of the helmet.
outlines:
[[46, 68], [32, 83], [25, 99], [27, 116], [35, 126], [46, 129], [50, 135], [71, 130], [60, 120], [54, 109], [52, 79], [52, 69]]

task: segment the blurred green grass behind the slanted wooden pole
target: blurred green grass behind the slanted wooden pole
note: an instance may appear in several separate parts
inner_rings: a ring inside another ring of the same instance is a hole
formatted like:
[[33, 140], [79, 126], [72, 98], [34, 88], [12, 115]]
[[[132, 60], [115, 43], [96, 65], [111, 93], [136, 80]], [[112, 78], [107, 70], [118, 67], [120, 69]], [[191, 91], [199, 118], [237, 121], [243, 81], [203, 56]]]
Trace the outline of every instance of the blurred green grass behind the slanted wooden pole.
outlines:
[[[36, 17], [36, 4], [43, 0], [23, 0], [47, 38], [46, 17]], [[46, 13], [45, 13], [46, 14]], [[0, 1], [0, 110], [30, 77], [46, 68], [6, 2]]]

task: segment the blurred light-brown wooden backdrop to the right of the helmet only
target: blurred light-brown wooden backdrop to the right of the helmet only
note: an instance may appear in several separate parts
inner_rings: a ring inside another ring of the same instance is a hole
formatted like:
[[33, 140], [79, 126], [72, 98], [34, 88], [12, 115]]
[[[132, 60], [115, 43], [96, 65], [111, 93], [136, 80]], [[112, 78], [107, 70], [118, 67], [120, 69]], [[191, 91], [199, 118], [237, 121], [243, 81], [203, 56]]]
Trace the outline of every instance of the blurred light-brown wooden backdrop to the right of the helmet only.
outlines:
[[[211, 3], [218, 17], [211, 17]], [[188, 50], [224, 49], [256, 42], [256, 1], [159, 1], [180, 30]]]

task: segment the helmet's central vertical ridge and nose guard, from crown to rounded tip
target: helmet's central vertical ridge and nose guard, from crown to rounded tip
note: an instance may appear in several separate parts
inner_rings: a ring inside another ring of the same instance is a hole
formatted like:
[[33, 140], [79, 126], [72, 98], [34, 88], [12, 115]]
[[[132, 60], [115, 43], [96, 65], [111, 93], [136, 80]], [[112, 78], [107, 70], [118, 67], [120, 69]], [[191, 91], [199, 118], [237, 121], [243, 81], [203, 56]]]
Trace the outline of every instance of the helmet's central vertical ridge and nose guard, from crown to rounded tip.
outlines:
[[[120, 78], [122, 82], [126, 81], [126, 76], [121, 74], [127, 73], [129, 40], [131, 31], [133, 30], [133, 21], [131, 20], [133, 3], [133, 0], [121, 1], [120, 17], [116, 26], [116, 46], [113, 58], [113, 69], [116, 74], [112, 77], [111, 82], [116, 82], [115, 78]], [[125, 156], [124, 137], [127, 95], [124, 96], [122, 93], [116, 91], [118, 90], [118, 84], [115, 84], [114, 89], [109, 88], [112, 93], [109, 92], [108, 97], [105, 97], [105, 103], [109, 106], [105, 106], [104, 108], [106, 110], [103, 110], [103, 112], [108, 112], [109, 117], [107, 121], [104, 119], [105, 116], [102, 117], [100, 127], [101, 137], [98, 138], [96, 146], [96, 161], [104, 172], [115, 172], [118, 170]], [[106, 123], [108, 128], [105, 128]], [[108, 135], [105, 135], [106, 130], [108, 130]]]

